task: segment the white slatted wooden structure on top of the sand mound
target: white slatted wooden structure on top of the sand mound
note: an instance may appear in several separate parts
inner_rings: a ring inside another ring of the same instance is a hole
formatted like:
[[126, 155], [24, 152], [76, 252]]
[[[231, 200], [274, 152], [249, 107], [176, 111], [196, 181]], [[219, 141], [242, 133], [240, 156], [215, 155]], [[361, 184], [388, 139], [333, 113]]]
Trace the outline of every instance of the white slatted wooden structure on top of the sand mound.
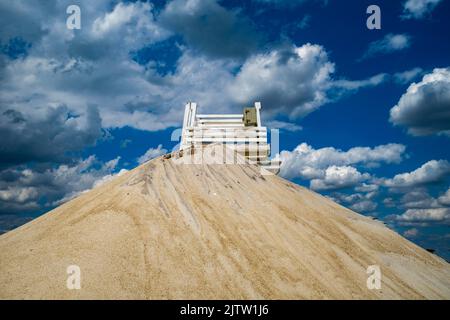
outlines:
[[185, 106], [180, 150], [223, 143], [242, 155], [248, 163], [258, 164], [277, 174], [281, 162], [271, 160], [267, 128], [261, 125], [261, 103], [245, 108], [243, 114], [197, 114], [197, 104]]

